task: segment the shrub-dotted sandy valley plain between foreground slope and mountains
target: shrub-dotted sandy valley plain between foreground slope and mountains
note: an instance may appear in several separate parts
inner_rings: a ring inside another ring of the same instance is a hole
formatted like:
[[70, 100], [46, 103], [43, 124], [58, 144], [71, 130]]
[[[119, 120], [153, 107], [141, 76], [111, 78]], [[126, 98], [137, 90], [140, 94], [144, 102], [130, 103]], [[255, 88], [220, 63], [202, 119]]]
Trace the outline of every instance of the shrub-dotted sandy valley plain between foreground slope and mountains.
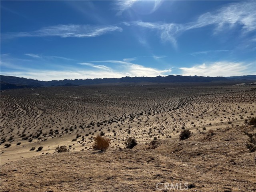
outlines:
[[[243, 126], [256, 114], [254, 86], [142, 84], [47, 87], [1, 92], [1, 165], [54, 153], [91, 150], [101, 132], [114, 148]], [[10, 144], [10, 147], [6, 147]], [[36, 152], [42, 146], [43, 150]]]

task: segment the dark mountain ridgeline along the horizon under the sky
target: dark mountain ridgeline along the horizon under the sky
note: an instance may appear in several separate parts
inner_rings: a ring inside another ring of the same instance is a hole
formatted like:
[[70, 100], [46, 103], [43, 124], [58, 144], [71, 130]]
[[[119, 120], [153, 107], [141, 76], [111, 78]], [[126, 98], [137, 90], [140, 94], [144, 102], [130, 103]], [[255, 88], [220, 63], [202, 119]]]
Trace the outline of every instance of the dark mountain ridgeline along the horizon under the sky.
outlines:
[[203, 76], [157, 76], [157, 77], [122, 77], [122, 78], [102, 78], [102, 79], [75, 79], [75, 80], [52, 80], [39, 81], [22, 77], [1, 75], [1, 90], [16, 88], [31, 88], [42, 86], [79, 86], [104, 83], [182, 83], [182, 82], [212, 82], [212, 81], [230, 81], [230, 80], [255, 80], [256, 75], [233, 76], [233, 77], [203, 77]]

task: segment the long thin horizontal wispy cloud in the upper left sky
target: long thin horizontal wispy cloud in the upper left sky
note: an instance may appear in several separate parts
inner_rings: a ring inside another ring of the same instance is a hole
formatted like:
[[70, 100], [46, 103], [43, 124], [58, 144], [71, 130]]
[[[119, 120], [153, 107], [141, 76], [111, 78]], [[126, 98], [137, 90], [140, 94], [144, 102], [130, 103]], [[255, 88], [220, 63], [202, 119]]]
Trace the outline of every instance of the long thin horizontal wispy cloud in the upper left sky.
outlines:
[[77, 38], [89, 38], [97, 37], [103, 34], [122, 31], [122, 28], [118, 26], [91, 26], [91, 25], [56, 25], [41, 28], [40, 30], [32, 32], [10, 32], [3, 33], [2, 38], [17, 38], [17, 37], [46, 37], [46, 36], [57, 36], [62, 38], [77, 37]]

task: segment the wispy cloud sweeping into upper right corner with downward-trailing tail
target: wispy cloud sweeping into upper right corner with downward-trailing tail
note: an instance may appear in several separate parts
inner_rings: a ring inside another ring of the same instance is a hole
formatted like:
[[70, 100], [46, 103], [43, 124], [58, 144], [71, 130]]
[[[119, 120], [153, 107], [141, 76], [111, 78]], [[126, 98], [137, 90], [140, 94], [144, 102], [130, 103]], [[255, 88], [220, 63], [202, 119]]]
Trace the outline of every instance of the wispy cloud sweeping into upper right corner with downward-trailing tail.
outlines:
[[171, 42], [176, 48], [176, 38], [180, 34], [187, 30], [202, 28], [208, 25], [215, 26], [214, 33], [220, 32], [227, 27], [232, 29], [236, 25], [242, 27], [243, 34], [256, 30], [255, 6], [256, 2], [254, 1], [231, 3], [215, 12], [202, 14], [196, 21], [186, 24], [142, 21], [134, 21], [131, 24], [157, 31], [163, 42]]

